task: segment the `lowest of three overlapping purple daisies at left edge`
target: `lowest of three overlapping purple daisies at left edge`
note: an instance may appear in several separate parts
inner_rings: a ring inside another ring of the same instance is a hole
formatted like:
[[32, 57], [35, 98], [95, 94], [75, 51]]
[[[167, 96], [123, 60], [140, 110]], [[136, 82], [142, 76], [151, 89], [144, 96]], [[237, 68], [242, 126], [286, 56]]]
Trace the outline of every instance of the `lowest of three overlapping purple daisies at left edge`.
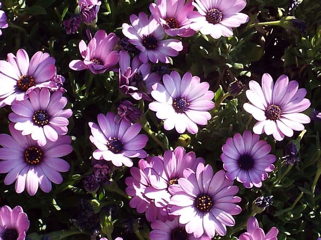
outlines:
[[25, 188], [30, 195], [35, 195], [38, 187], [46, 193], [51, 191], [51, 182], [60, 184], [63, 179], [59, 172], [69, 171], [69, 164], [60, 157], [73, 151], [70, 136], [59, 136], [55, 142], [39, 146], [30, 136], [9, 124], [10, 135], [0, 134], [0, 173], [6, 173], [4, 184], [14, 181], [17, 193]]

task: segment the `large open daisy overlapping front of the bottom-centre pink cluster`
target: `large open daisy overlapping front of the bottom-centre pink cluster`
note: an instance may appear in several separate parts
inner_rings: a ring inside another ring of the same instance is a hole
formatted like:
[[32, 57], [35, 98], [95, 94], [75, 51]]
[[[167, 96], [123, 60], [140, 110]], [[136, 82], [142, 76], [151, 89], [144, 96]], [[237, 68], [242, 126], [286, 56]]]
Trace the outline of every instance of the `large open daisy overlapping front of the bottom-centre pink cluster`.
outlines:
[[196, 171], [187, 168], [184, 178], [178, 179], [178, 185], [169, 186], [173, 194], [169, 204], [174, 206], [171, 214], [179, 216], [179, 223], [186, 224], [187, 233], [194, 237], [213, 238], [215, 233], [226, 234], [226, 226], [234, 226], [232, 215], [239, 214], [242, 209], [235, 203], [241, 198], [234, 196], [239, 188], [233, 181], [225, 178], [224, 170], [213, 174], [210, 165], [198, 164]]

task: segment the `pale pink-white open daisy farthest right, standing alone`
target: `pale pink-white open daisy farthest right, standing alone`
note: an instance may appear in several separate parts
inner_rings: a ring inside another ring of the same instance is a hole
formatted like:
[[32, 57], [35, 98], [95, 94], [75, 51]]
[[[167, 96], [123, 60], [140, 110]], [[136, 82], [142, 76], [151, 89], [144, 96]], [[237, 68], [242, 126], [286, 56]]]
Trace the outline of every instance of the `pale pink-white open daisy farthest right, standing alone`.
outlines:
[[300, 112], [311, 102], [304, 98], [307, 90], [298, 89], [297, 81], [289, 82], [289, 78], [282, 75], [274, 85], [272, 77], [265, 73], [262, 87], [256, 81], [250, 81], [249, 87], [246, 96], [252, 104], [244, 103], [243, 108], [258, 121], [253, 127], [254, 133], [273, 134], [275, 140], [281, 141], [284, 135], [292, 137], [293, 130], [304, 130], [303, 124], [310, 122], [310, 118]]

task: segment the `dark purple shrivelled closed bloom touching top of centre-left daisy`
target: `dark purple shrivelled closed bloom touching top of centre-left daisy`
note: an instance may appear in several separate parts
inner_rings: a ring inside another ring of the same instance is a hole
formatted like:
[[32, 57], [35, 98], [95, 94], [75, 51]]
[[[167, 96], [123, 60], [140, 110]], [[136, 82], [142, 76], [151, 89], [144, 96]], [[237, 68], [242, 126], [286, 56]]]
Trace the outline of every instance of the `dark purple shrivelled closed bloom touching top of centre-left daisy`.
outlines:
[[142, 115], [141, 110], [134, 107], [133, 103], [131, 103], [128, 100], [120, 102], [117, 109], [118, 109], [118, 115], [115, 117], [116, 123], [119, 123], [122, 118], [134, 123]]

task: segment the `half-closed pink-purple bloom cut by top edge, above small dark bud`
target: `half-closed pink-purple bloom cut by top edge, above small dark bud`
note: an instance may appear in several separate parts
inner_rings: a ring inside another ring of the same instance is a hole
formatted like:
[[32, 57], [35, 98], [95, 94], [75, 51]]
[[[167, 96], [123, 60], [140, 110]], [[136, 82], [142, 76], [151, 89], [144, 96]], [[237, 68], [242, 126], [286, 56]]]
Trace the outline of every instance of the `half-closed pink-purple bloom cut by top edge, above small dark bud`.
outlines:
[[86, 24], [97, 21], [97, 13], [101, 2], [98, 0], [79, 0], [79, 13], [82, 21]]

